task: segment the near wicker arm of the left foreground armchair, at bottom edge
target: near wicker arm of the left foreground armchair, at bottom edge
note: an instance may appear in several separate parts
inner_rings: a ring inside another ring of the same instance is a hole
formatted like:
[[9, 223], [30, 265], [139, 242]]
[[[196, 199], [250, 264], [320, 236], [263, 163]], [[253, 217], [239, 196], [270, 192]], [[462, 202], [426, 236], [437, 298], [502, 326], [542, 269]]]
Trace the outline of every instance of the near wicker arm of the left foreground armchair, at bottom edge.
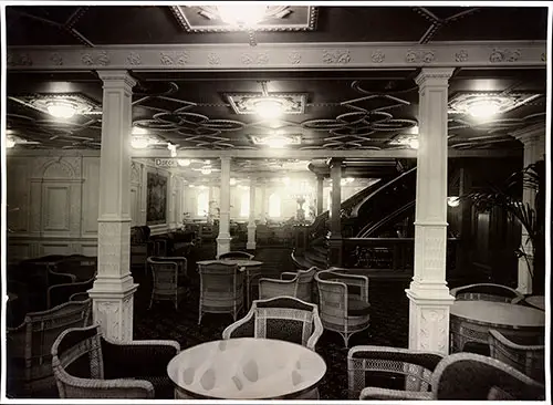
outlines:
[[66, 374], [56, 373], [63, 390], [74, 391], [74, 394], [62, 397], [73, 398], [154, 398], [154, 385], [145, 380], [114, 378], [114, 380], [92, 380], [79, 378]]

